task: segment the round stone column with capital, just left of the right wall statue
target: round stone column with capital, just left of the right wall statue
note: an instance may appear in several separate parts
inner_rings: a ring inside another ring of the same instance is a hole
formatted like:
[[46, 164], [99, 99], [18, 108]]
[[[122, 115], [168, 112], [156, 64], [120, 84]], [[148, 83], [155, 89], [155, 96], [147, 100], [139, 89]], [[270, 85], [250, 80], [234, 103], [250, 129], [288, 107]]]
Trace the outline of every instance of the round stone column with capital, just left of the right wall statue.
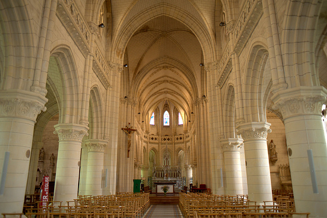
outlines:
[[249, 200], [272, 201], [267, 134], [270, 123], [250, 122], [237, 126], [244, 140]]

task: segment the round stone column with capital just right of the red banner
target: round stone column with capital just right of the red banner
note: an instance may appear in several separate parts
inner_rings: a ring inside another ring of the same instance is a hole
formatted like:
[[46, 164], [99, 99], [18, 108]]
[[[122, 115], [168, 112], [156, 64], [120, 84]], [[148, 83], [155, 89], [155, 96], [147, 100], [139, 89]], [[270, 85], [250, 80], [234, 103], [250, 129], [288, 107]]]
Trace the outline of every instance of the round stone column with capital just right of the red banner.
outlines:
[[54, 127], [54, 134], [59, 137], [54, 201], [66, 204], [77, 198], [81, 144], [88, 127], [74, 123], [59, 123]]

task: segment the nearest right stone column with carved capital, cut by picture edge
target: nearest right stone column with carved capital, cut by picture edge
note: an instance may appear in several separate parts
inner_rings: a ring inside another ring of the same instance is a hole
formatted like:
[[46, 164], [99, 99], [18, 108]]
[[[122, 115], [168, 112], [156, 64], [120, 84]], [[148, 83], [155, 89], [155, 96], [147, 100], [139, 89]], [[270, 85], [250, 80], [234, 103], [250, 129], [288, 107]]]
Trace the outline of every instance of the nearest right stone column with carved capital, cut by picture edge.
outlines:
[[[327, 147], [321, 121], [321, 106], [327, 91], [322, 86], [301, 87], [276, 93], [272, 100], [282, 112], [292, 177], [296, 212], [327, 217]], [[310, 172], [308, 150], [315, 170]], [[315, 172], [318, 193], [314, 193]]]

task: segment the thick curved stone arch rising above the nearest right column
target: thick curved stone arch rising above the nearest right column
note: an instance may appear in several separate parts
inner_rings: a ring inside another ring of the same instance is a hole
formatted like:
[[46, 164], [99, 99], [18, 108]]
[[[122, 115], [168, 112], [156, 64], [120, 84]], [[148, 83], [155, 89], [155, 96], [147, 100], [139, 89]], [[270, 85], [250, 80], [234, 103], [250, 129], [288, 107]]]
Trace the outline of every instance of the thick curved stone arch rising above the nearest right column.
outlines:
[[[289, 1], [287, 4], [281, 47], [285, 52], [284, 63], [287, 63], [284, 69], [288, 88], [319, 85], [315, 69], [315, 50], [318, 42], [316, 41], [317, 24], [323, 4], [318, 0]], [[306, 22], [294, 24], [294, 16], [306, 17]], [[320, 42], [324, 41], [320, 36], [318, 39]]]

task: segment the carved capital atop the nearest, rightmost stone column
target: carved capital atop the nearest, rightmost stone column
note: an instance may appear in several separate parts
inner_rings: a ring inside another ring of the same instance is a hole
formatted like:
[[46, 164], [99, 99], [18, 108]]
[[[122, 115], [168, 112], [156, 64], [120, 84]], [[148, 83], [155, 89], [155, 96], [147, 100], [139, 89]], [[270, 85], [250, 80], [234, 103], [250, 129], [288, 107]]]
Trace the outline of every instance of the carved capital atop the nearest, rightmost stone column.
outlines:
[[322, 86], [300, 86], [275, 93], [271, 100], [283, 119], [303, 115], [321, 115], [321, 106], [326, 102], [327, 90]]

